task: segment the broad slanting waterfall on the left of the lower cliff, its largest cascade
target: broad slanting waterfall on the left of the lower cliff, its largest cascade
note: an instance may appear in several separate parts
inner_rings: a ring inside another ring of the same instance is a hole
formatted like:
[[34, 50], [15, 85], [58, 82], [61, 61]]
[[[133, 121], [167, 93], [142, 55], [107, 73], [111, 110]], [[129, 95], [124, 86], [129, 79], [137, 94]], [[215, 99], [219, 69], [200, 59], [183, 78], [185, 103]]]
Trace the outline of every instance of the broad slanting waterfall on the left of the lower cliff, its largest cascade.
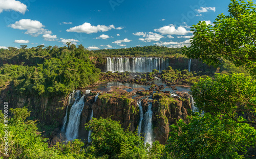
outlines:
[[84, 95], [80, 98], [80, 91], [76, 92], [76, 100], [72, 105], [69, 115], [69, 122], [66, 128], [66, 137], [68, 141], [74, 140], [78, 136], [78, 128], [80, 124], [80, 116], [84, 106]]

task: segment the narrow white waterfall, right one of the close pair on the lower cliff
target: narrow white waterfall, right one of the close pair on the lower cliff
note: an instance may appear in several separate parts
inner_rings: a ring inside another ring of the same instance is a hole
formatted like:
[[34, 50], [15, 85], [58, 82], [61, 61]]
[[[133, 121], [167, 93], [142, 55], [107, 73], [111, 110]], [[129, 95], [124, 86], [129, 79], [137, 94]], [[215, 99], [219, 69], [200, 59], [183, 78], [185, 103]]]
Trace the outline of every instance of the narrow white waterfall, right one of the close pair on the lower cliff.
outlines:
[[152, 128], [152, 103], [148, 103], [147, 112], [145, 113], [145, 140], [144, 144], [153, 143], [153, 128]]

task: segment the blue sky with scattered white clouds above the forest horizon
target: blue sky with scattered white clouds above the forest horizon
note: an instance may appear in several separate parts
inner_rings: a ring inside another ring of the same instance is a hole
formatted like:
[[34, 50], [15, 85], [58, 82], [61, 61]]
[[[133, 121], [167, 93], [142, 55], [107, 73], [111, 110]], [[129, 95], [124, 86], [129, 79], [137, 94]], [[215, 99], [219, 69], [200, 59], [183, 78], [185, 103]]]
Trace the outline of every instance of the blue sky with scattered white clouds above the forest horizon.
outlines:
[[88, 49], [189, 45], [189, 27], [228, 14], [227, 0], [0, 0], [0, 48], [82, 44]]

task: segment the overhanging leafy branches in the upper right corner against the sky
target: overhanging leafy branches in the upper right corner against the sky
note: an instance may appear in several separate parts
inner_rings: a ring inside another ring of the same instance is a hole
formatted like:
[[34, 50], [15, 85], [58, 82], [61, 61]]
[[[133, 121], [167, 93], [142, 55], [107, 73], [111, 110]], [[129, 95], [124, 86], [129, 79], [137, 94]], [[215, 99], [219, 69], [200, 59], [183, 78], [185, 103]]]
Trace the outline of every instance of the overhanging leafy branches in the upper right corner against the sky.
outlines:
[[191, 46], [185, 46], [183, 54], [215, 66], [224, 58], [256, 75], [255, 6], [252, 1], [231, 0], [229, 15], [218, 15], [214, 26], [199, 21], [191, 30], [194, 32]]

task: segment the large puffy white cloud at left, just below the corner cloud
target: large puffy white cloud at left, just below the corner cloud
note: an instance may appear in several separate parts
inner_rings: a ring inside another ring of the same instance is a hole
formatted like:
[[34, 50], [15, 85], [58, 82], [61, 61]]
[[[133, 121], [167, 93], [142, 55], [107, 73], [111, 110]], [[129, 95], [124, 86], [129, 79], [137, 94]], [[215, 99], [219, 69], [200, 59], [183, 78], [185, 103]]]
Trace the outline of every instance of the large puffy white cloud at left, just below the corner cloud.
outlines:
[[40, 34], [52, 34], [51, 31], [44, 29], [45, 25], [37, 20], [21, 19], [16, 21], [14, 24], [10, 24], [9, 26], [13, 29], [27, 30], [25, 34], [29, 34], [35, 37]]

